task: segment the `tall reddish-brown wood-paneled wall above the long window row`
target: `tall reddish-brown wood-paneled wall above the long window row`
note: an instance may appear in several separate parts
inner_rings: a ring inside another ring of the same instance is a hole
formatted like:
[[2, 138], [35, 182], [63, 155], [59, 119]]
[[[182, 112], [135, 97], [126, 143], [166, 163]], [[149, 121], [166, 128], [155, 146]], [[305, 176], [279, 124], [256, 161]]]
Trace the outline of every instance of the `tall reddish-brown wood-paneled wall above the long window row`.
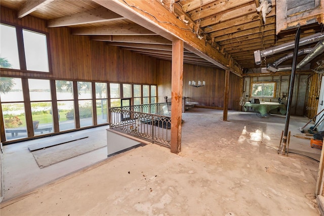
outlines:
[[45, 20], [32, 16], [17, 19], [17, 13], [5, 7], [1, 7], [1, 21], [48, 32], [52, 68], [51, 73], [2, 68], [2, 76], [156, 84], [155, 58], [72, 35], [67, 27], [47, 28]]

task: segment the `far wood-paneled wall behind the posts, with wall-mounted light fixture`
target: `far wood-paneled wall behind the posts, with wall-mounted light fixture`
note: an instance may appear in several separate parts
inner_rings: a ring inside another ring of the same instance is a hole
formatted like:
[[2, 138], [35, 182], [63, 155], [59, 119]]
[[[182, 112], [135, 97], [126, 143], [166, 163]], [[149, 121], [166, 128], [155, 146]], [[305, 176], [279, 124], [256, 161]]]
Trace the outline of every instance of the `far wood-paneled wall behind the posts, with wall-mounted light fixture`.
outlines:
[[[164, 102], [165, 96], [171, 98], [172, 63], [157, 60], [158, 102]], [[206, 86], [189, 86], [189, 81], [205, 81]], [[228, 110], [240, 110], [242, 79], [230, 74]], [[183, 65], [183, 97], [186, 101], [198, 102], [198, 106], [223, 109], [224, 105], [225, 70], [216, 67], [204, 67], [192, 64]]]

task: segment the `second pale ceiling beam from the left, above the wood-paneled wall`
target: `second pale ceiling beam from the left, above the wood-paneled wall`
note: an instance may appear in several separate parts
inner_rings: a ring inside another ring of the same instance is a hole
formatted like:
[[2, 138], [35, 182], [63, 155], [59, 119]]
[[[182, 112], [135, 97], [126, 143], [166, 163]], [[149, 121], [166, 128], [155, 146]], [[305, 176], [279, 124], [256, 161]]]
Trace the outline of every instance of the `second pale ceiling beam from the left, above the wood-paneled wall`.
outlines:
[[72, 14], [47, 21], [47, 27], [62, 27], [125, 19], [106, 8], [100, 7], [83, 13]]

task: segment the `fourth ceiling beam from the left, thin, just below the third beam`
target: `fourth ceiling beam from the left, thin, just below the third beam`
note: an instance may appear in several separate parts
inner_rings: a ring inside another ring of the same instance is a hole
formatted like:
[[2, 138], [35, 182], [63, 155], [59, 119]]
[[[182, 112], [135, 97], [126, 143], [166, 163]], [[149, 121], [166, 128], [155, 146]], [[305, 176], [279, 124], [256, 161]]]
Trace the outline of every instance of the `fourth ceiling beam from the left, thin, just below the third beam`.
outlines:
[[108, 41], [108, 42], [121, 42], [121, 43], [138, 43], [138, 44], [160, 44], [172, 45], [168, 39], [160, 35], [93, 35], [91, 40], [94, 41]]

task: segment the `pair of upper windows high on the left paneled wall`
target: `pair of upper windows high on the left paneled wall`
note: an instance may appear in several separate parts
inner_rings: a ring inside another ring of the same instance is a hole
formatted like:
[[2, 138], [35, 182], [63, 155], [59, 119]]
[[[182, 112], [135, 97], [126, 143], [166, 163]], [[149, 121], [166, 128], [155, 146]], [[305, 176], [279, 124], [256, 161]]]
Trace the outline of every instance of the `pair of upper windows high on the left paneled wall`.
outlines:
[[[46, 34], [5, 24], [1, 24], [0, 31], [1, 67], [50, 71]], [[20, 37], [17, 37], [17, 34]], [[22, 41], [18, 43], [17, 39], [22, 39]], [[18, 47], [18, 44], [21, 47]]]

